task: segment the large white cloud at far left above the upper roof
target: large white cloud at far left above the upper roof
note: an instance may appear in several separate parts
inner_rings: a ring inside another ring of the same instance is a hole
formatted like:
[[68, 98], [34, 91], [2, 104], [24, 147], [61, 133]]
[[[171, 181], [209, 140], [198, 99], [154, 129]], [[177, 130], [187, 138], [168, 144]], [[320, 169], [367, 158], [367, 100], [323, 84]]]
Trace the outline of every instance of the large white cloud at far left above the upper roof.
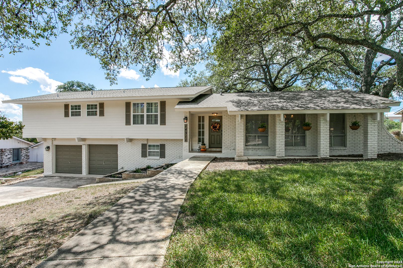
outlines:
[[[22, 81], [21, 78], [25, 77], [28, 80], [37, 81], [40, 84], [41, 90], [49, 93], [56, 92], [56, 87], [58, 85], [63, 84], [62, 82], [58, 82], [56, 80], [50, 79], [49, 74], [44, 70], [39, 68], [27, 67], [24, 69], [19, 69], [17, 71], [1, 71], [2, 73], [12, 74], [15, 78], [10, 78], [11, 81], [16, 82], [15, 80], [19, 76], [19, 81]], [[12, 80], [14, 79], [14, 80]], [[24, 78], [23, 78], [24, 79]], [[16, 82], [20, 83], [20, 82]]]

